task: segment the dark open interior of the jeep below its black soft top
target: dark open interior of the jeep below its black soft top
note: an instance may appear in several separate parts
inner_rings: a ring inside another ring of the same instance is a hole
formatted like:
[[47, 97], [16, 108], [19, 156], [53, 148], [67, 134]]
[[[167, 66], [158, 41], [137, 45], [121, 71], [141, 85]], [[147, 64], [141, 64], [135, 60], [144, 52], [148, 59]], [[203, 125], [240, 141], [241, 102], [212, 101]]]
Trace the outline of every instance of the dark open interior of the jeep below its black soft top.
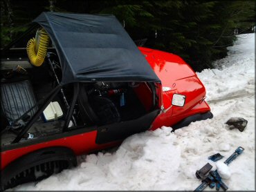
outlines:
[[[158, 108], [155, 83], [97, 81], [79, 83], [79, 93], [70, 112], [74, 84], [55, 90], [62, 80], [62, 67], [51, 43], [41, 66], [30, 64], [26, 48], [8, 48], [1, 58], [0, 75], [1, 146], [15, 143], [17, 135], [30, 124], [46, 100], [44, 111], [19, 142], [77, 128], [127, 122]], [[71, 121], [66, 123], [68, 113]]]

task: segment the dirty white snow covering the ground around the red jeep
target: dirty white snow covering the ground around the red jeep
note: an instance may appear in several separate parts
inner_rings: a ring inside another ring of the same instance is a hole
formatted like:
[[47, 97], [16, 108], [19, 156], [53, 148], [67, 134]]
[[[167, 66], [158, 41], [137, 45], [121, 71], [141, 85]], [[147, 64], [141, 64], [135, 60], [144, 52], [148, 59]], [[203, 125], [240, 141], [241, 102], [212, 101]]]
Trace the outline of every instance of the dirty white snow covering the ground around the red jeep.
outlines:
[[[207, 100], [248, 96], [212, 102], [214, 117], [171, 133], [162, 127], [128, 137], [116, 151], [79, 157], [79, 165], [38, 183], [15, 190], [186, 190], [196, 189], [195, 176], [207, 162], [222, 167], [238, 146], [245, 148], [229, 166], [223, 179], [230, 191], [255, 190], [255, 34], [238, 35], [228, 56], [214, 63], [216, 69], [198, 73], [208, 91]], [[219, 66], [222, 66], [221, 68]], [[230, 117], [248, 120], [244, 132], [229, 130]], [[216, 163], [208, 156], [221, 153]], [[208, 190], [210, 189], [208, 187]]]

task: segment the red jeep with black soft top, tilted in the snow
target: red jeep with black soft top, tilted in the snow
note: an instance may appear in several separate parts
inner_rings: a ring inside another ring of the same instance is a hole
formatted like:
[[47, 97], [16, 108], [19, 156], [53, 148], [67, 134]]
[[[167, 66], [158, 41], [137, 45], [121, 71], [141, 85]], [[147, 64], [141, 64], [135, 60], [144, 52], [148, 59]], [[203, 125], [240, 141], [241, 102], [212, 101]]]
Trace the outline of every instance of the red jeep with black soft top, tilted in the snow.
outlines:
[[[26, 48], [15, 47], [24, 40]], [[43, 12], [2, 53], [2, 190], [76, 166], [75, 155], [129, 135], [212, 117], [192, 68], [138, 48], [113, 15]]]

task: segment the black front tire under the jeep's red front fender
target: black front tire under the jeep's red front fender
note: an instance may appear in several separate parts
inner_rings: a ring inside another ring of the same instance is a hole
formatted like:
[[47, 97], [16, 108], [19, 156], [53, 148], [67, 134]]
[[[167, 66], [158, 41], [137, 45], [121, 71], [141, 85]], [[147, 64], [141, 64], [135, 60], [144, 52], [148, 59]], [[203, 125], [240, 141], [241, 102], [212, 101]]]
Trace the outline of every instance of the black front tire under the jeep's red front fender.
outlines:
[[197, 113], [197, 114], [191, 115], [189, 117], [186, 117], [185, 119], [182, 119], [177, 124], [174, 124], [174, 126], [172, 126], [172, 132], [178, 128], [182, 128], [183, 126], [188, 126], [192, 122], [197, 122], [205, 119], [212, 119], [212, 117], [213, 115], [210, 111], [206, 113]]

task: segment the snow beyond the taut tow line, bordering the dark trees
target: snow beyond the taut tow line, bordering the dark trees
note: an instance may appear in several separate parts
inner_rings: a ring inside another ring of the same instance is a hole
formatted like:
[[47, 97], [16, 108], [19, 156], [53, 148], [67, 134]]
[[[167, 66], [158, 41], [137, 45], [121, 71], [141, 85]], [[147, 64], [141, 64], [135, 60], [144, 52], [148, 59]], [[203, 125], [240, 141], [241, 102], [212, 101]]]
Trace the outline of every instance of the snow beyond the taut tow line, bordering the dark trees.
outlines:
[[214, 62], [215, 69], [197, 75], [207, 90], [206, 101], [255, 91], [255, 34], [238, 35], [228, 56]]

